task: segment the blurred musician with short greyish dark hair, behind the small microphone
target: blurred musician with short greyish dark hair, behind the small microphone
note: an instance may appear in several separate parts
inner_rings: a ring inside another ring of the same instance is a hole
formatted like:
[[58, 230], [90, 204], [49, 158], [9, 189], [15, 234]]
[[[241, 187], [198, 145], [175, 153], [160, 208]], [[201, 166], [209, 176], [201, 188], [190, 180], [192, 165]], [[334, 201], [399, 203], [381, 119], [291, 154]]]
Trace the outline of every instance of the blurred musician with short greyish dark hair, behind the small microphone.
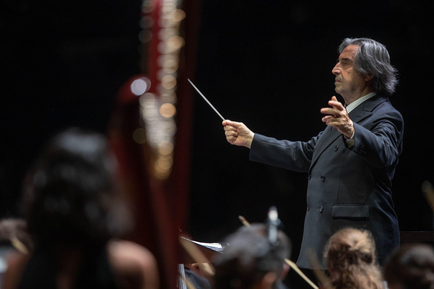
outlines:
[[278, 231], [277, 244], [267, 236], [266, 225], [252, 224], [240, 227], [229, 235], [224, 254], [214, 260], [214, 289], [284, 289], [282, 283], [289, 266], [291, 244], [282, 231]]

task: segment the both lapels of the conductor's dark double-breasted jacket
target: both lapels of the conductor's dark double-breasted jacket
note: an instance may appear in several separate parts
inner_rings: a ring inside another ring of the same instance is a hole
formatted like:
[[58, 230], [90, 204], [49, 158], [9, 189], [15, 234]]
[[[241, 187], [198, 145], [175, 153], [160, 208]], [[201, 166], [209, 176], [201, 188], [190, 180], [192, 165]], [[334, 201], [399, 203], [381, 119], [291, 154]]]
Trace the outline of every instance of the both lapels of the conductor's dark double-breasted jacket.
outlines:
[[[381, 95], [371, 97], [351, 110], [348, 116], [353, 122], [360, 123], [362, 120], [372, 115], [372, 110], [374, 110], [375, 107], [388, 99], [388, 97]], [[339, 133], [339, 130], [336, 128], [327, 127], [325, 129], [325, 132], [322, 133], [319, 137], [318, 143], [316, 144], [316, 153], [313, 155], [312, 162], [310, 163], [309, 172], [318, 160], [319, 156], [321, 156], [325, 149], [327, 149], [339, 136], [343, 138], [342, 133]]]

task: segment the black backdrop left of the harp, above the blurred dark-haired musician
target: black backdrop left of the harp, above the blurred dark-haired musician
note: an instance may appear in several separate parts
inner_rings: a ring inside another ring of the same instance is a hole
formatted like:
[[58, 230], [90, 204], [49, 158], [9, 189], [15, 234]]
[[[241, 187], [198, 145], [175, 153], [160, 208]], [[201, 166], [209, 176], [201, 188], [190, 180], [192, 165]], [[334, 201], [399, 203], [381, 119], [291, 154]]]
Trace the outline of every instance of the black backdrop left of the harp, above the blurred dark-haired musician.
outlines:
[[0, 216], [50, 137], [104, 132], [119, 87], [140, 71], [140, 0], [7, 0], [0, 10]]

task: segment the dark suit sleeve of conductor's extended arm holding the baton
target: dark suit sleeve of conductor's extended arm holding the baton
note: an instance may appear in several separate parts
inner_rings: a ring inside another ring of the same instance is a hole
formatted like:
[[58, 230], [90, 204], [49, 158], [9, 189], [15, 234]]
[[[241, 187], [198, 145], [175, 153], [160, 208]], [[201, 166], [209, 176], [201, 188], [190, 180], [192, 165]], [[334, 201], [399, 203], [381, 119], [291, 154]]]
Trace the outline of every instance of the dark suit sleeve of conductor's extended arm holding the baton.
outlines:
[[296, 172], [308, 172], [313, 149], [321, 134], [322, 132], [308, 142], [292, 142], [255, 133], [250, 146], [249, 159]]

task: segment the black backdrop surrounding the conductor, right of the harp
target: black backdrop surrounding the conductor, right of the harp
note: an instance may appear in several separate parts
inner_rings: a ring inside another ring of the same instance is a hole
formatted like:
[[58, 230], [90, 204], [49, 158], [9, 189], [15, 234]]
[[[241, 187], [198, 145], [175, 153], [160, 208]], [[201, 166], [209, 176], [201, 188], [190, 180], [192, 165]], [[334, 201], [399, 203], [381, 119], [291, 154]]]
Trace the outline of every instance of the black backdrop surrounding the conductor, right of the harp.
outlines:
[[[335, 95], [331, 70], [342, 39], [383, 43], [399, 71], [391, 102], [404, 117], [392, 182], [400, 229], [432, 231], [421, 194], [421, 183], [434, 181], [429, 17], [424, 6], [404, 1], [204, 1], [196, 85], [225, 118], [266, 136], [307, 141], [325, 128], [319, 110]], [[199, 96], [194, 111], [192, 235], [220, 241], [240, 226], [238, 215], [263, 221], [276, 205], [296, 260], [307, 174], [250, 162], [248, 149], [226, 142], [221, 120]]]

